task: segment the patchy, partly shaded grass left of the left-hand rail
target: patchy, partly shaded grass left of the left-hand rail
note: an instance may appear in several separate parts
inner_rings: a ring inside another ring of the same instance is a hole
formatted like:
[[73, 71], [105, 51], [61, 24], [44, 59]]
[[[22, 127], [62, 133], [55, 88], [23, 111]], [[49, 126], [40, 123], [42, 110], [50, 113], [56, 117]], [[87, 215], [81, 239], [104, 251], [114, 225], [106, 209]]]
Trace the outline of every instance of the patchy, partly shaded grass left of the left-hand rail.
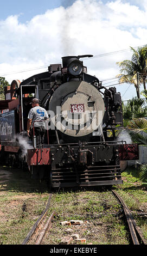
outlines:
[[20, 169], [1, 167], [0, 173], [0, 243], [20, 245], [46, 206], [47, 186]]

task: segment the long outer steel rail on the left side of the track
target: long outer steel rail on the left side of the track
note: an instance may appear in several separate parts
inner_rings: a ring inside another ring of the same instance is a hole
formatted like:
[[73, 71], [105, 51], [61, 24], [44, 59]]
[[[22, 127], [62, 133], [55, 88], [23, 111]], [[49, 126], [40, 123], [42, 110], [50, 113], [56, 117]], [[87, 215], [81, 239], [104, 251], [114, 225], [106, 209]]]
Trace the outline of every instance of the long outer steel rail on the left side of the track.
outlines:
[[[31, 237], [36, 233], [36, 230], [39, 229], [39, 225], [42, 223], [43, 219], [47, 215], [51, 198], [52, 198], [52, 194], [49, 195], [49, 199], [48, 199], [48, 203], [46, 205], [46, 209], [44, 209], [41, 216], [38, 218], [38, 220], [35, 222], [35, 224], [31, 228], [31, 230], [29, 231], [29, 233], [28, 233], [27, 237], [25, 237], [22, 245], [26, 245], [28, 243], [28, 241], [31, 239]], [[52, 215], [54, 215], [54, 212], [53, 212]], [[53, 216], [52, 216], [52, 218], [53, 218]], [[49, 220], [50, 220], [50, 218], [49, 218]]]

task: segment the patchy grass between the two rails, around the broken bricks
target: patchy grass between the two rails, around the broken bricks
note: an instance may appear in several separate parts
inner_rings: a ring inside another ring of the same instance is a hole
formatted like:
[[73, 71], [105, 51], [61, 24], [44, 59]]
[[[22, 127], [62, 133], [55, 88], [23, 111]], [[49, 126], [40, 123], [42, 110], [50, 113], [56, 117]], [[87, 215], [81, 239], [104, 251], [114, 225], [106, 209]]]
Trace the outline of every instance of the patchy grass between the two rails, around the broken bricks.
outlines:
[[[70, 220], [84, 221], [84, 224], [72, 225], [70, 228], [73, 234], [78, 233], [81, 238], [86, 239], [87, 243], [92, 242], [92, 244], [101, 245], [128, 244], [127, 235], [122, 236], [121, 240], [118, 237], [118, 232], [121, 233], [121, 230], [123, 230], [124, 233], [127, 233], [127, 230], [125, 230], [123, 221], [112, 215], [112, 212], [117, 212], [120, 209], [120, 205], [111, 191], [60, 192], [60, 194], [54, 194], [54, 197], [52, 201], [54, 203], [51, 207], [55, 210], [56, 216], [50, 235], [44, 241], [45, 244], [60, 243], [61, 238], [66, 236], [66, 229], [68, 228], [68, 226], [62, 226], [60, 223]], [[107, 215], [97, 217], [99, 214], [106, 213]], [[117, 225], [118, 228], [114, 228]], [[116, 229], [119, 231], [116, 231]]]

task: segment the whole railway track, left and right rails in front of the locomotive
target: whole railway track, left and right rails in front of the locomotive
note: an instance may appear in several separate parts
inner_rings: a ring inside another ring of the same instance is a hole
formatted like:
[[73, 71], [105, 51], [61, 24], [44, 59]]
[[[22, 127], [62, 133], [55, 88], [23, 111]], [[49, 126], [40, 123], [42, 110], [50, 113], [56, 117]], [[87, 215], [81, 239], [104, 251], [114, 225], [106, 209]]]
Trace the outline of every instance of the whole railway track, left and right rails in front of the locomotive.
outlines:
[[[133, 245], [140, 245], [140, 244], [146, 245], [147, 243], [142, 235], [142, 231], [140, 230], [139, 227], [137, 227], [135, 218], [133, 218], [131, 211], [129, 210], [127, 205], [124, 203], [122, 197], [120, 197], [120, 195], [116, 191], [112, 190], [112, 192], [113, 192], [114, 196], [117, 197], [120, 204], [122, 204], [122, 206], [123, 206], [124, 215], [127, 220], [127, 224], [129, 227]], [[49, 195], [46, 209], [42, 212], [41, 216], [38, 218], [36, 223], [33, 225], [29, 234], [27, 235], [27, 237], [25, 237], [22, 245], [27, 245], [29, 243], [34, 244], [34, 245], [40, 245], [44, 239], [44, 236], [47, 234], [49, 229], [52, 227], [52, 220], [53, 220], [54, 214], [55, 214], [54, 211], [52, 212], [52, 214], [50, 215], [50, 217], [47, 220], [47, 212], [49, 209], [51, 198], [52, 198], [52, 194]]]

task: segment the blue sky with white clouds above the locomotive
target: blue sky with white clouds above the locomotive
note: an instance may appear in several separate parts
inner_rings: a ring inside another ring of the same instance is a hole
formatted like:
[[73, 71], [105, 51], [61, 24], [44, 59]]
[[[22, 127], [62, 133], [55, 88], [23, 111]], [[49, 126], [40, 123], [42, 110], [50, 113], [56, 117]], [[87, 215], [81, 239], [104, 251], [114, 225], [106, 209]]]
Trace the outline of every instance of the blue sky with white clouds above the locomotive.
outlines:
[[[118, 84], [116, 64], [131, 47], [147, 44], [147, 5], [142, 0], [0, 0], [0, 76], [9, 83], [45, 72], [63, 56], [82, 58], [88, 74], [114, 86], [122, 100], [136, 96]], [[141, 86], [140, 91], [143, 90]]]

